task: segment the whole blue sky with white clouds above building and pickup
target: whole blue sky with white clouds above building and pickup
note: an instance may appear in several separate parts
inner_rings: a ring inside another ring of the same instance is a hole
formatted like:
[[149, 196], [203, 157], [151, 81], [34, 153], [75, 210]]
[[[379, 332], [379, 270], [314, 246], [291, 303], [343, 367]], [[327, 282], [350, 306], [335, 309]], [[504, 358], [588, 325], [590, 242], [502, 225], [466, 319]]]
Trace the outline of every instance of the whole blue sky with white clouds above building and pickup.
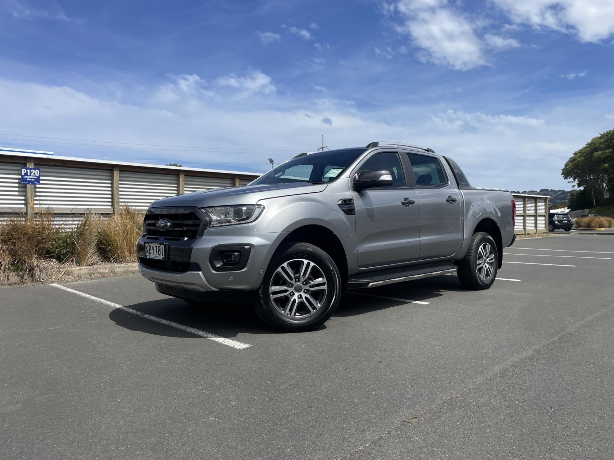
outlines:
[[569, 188], [613, 40], [611, 0], [0, 0], [0, 146], [263, 172], [324, 134]]

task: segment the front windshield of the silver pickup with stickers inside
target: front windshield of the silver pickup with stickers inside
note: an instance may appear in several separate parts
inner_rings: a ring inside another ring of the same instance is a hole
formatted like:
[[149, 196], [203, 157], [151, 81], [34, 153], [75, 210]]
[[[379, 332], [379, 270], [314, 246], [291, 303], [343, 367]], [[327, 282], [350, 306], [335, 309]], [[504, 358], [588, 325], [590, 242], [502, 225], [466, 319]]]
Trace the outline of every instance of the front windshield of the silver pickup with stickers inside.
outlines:
[[303, 155], [271, 169], [250, 185], [296, 182], [327, 183], [341, 175], [363, 151], [365, 151], [364, 147], [344, 148]]

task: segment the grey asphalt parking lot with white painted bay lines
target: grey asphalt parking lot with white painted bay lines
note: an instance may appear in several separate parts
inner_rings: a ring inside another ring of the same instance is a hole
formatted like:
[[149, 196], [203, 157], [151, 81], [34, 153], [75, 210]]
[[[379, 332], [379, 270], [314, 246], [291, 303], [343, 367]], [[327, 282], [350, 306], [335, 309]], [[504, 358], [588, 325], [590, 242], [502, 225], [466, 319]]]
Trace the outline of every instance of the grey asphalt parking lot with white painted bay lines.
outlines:
[[614, 237], [504, 252], [302, 334], [140, 275], [2, 288], [0, 458], [614, 458]]

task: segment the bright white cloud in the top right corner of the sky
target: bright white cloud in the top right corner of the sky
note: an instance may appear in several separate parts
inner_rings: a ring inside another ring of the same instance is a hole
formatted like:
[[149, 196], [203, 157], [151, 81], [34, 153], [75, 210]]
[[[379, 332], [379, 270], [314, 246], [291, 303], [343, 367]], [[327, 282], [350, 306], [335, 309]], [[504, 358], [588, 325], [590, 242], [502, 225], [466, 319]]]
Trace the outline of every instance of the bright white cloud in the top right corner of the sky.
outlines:
[[612, 0], [492, 0], [515, 23], [571, 33], [583, 42], [614, 34]]

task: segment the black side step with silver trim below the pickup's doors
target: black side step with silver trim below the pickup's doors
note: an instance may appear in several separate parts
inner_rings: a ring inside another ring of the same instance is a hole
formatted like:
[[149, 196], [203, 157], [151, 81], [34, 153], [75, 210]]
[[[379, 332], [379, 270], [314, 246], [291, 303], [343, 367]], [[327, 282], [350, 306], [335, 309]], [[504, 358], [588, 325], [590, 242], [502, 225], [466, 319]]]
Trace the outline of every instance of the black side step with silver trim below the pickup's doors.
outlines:
[[379, 272], [352, 275], [348, 278], [348, 289], [375, 288], [376, 286], [417, 280], [418, 278], [436, 277], [452, 272], [456, 272], [456, 265], [450, 262], [379, 270]]

